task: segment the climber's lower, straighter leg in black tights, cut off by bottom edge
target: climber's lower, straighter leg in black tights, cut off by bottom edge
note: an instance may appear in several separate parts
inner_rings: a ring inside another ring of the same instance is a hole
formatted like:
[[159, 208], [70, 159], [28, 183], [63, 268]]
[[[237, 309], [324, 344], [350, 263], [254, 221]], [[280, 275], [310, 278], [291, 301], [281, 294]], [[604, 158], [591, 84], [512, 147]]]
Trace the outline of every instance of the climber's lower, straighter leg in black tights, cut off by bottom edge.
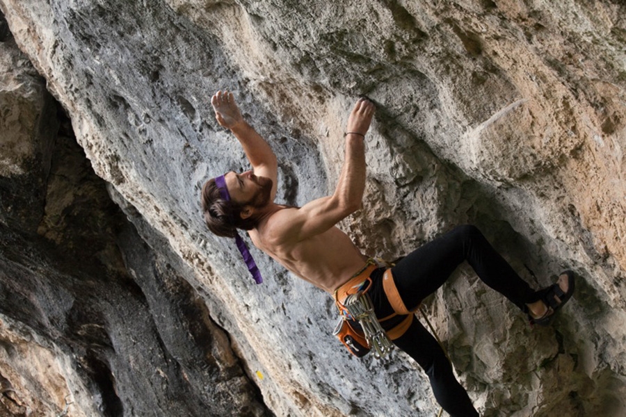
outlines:
[[450, 416], [479, 415], [467, 392], [456, 380], [452, 366], [441, 346], [419, 320], [413, 320], [411, 327], [397, 338], [394, 344], [408, 353], [424, 369], [437, 402]]

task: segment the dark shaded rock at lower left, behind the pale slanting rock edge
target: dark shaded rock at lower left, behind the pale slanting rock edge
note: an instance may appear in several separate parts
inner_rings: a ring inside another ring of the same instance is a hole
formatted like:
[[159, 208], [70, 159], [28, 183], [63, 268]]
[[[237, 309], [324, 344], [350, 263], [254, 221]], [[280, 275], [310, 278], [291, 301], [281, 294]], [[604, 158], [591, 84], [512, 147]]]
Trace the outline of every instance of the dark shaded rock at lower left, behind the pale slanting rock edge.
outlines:
[[193, 273], [111, 200], [15, 44], [0, 54], [28, 76], [2, 89], [21, 123], [0, 177], [0, 414], [269, 415]]

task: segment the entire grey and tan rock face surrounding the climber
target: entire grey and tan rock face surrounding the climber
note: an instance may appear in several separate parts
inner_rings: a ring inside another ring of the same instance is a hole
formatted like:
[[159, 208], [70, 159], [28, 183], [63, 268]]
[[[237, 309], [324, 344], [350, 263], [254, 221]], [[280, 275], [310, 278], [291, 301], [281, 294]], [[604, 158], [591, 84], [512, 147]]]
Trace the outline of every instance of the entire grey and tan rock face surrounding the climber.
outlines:
[[482, 415], [625, 414], [622, 2], [0, 8], [3, 414], [436, 414], [406, 355], [350, 357], [328, 295], [253, 250], [255, 286], [204, 227], [204, 180], [246, 166], [220, 89], [278, 155], [287, 204], [332, 191], [354, 97], [378, 103], [342, 222], [364, 252], [470, 222], [533, 286], [581, 275], [540, 329], [470, 268], [426, 300]]

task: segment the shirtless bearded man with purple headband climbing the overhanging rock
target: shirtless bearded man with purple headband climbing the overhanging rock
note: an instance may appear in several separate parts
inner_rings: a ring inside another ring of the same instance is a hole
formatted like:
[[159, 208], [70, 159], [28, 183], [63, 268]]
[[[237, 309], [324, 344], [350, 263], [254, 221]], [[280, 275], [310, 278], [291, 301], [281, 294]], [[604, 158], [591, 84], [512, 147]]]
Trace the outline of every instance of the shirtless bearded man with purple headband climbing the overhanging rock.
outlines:
[[[359, 99], [348, 117], [344, 165], [335, 192], [299, 208], [274, 202], [276, 156], [243, 120], [232, 93], [218, 91], [211, 105], [218, 123], [230, 129], [241, 143], [252, 170], [228, 172], [204, 184], [202, 208], [209, 229], [231, 238], [238, 238], [236, 229], [247, 230], [256, 247], [331, 295], [342, 291], [348, 281], [352, 284], [355, 278], [367, 275], [365, 278], [371, 279], [368, 293], [381, 322], [396, 315], [412, 318], [419, 303], [442, 286], [464, 261], [472, 265], [485, 284], [527, 313], [533, 323], [547, 324], [572, 295], [572, 272], [565, 271], [556, 284], [533, 291], [472, 226], [457, 227], [415, 250], [390, 270], [368, 266], [368, 257], [336, 224], [361, 206], [366, 177], [364, 140], [375, 112], [369, 99]], [[241, 246], [240, 251], [259, 282], [249, 253]], [[438, 342], [418, 320], [409, 321], [408, 329], [393, 343], [424, 368], [444, 410], [453, 417], [478, 416]]]

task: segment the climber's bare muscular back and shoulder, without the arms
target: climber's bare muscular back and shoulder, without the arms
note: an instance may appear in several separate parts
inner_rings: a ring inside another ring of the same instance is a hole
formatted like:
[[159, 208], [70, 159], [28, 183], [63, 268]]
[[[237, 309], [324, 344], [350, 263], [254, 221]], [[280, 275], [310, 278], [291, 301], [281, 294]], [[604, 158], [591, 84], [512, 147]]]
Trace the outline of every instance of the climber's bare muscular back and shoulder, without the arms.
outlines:
[[252, 242], [284, 268], [332, 293], [358, 272], [367, 260], [337, 227], [298, 240], [284, 224], [299, 208], [281, 208], [250, 231]]

